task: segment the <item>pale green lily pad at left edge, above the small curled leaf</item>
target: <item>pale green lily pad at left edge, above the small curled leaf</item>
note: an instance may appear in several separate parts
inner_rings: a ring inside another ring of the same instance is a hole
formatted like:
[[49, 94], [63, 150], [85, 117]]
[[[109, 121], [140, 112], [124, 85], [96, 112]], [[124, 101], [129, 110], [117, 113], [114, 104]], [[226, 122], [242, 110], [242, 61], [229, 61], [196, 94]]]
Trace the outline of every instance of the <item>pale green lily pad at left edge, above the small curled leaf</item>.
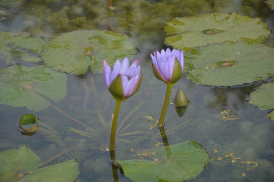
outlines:
[[41, 111], [66, 96], [67, 75], [43, 65], [0, 69], [0, 104]]

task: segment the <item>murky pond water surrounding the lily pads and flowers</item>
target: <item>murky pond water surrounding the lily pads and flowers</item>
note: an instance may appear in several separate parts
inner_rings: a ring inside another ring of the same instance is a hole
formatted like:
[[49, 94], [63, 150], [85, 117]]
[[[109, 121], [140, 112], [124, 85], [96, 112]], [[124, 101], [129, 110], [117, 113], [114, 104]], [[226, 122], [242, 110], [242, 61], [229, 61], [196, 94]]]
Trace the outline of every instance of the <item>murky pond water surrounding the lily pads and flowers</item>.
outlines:
[[[164, 146], [155, 121], [161, 114], [166, 85], [154, 76], [150, 53], [172, 49], [164, 44], [163, 27], [167, 22], [175, 17], [236, 11], [243, 16], [258, 17], [270, 30], [274, 28], [274, 13], [264, 1], [126, 0], [113, 1], [110, 8], [109, 1], [10, 2], [13, 3], [9, 6], [2, 5], [13, 13], [2, 15], [1, 32], [28, 32], [47, 41], [60, 33], [78, 29], [104, 29], [129, 36], [137, 50], [130, 63], [138, 58], [144, 76], [139, 91], [120, 108], [115, 143], [118, 161], [139, 159], [138, 151]], [[23, 61], [20, 56], [9, 62], [0, 57], [0, 69], [13, 64], [44, 65], [43, 62]], [[108, 146], [115, 100], [104, 84], [102, 73], [94, 74], [88, 69], [83, 75], [66, 75], [67, 81], [57, 82], [57, 85], [66, 82], [64, 98], [60, 102], [50, 101], [45, 109], [33, 111], [26, 107], [0, 105], [0, 151], [27, 145], [46, 165], [77, 159], [79, 181], [113, 181], [116, 175], [113, 171], [118, 171], [119, 181], [130, 181], [110, 162]], [[274, 123], [266, 117], [272, 110], [259, 110], [248, 103], [250, 93], [272, 80], [269, 77], [237, 86], [207, 86], [187, 79], [187, 73], [184, 73], [174, 84], [164, 125], [168, 144], [192, 140], [202, 145], [210, 157], [205, 169], [190, 181], [274, 180]], [[182, 117], [176, 113], [173, 103], [180, 87], [190, 101]], [[58, 86], [51, 89], [61, 92]], [[147, 89], [152, 97], [144, 99], [142, 95]], [[34, 101], [34, 110], [36, 106], [44, 105], [35, 96], [28, 100]], [[31, 136], [21, 134], [19, 119], [29, 113], [39, 118], [37, 125], [47, 131], [38, 130]]]

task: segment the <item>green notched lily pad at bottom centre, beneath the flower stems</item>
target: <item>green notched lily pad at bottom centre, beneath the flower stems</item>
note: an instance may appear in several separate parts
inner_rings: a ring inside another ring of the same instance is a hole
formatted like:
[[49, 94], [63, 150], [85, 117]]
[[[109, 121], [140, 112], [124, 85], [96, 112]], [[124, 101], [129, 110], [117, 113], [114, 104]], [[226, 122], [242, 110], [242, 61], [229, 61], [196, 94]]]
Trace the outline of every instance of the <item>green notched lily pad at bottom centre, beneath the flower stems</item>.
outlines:
[[[133, 181], [183, 181], [196, 177], [208, 164], [208, 154], [194, 141], [171, 145], [169, 159], [165, 147], [155, 148], [151, 159], [119, 161], [125, 176]], [[148, 151], [142, 151], [145, 153]], [[149, 180], [148, 180], [149, 179]]]

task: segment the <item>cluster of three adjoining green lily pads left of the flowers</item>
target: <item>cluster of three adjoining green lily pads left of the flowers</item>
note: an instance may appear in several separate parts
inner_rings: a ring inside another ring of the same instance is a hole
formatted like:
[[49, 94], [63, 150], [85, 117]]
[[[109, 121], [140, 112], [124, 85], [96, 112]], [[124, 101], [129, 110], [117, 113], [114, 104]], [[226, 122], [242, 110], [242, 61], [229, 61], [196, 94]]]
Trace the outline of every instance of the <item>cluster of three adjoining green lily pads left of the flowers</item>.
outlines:
[[[105, 30], [76, 30], [47, 43], [29, 33], [0, 32], [0, 40], [0, 61], [6, 62], [4, 66], [20, 64], [0, 69], [0, 104], [26, 106], [34, 111], [46, 109], [50, 100], [59, 102], [66, 96], [67, 76], [62, 72], [79, 75], [90, 67], [100, 73], [103, 57], [113, 65], [114, 60], [131, 58], [136, 52], [128, 36]], [[16, 57], [21, 61], [16, 62]], [[44, 63], [58, 71], [40, 64], [24, 67], [22, 61]], [[35, 101], [29, 99], [33, 95]]]

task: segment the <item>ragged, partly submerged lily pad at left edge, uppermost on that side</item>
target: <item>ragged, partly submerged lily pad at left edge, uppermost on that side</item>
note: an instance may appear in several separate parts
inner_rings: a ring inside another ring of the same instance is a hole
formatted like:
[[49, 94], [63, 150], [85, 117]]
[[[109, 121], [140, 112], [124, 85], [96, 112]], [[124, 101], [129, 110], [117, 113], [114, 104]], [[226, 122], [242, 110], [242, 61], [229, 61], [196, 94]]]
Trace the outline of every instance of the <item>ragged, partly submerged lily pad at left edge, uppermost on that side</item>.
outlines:
[[45, 40], [40, 37], [31, 37], [29, 33], [16, 34], [0, 32], [0, 61], [9, 64], [15, 57], [22, 60], [38, 63], [38, 57]]

